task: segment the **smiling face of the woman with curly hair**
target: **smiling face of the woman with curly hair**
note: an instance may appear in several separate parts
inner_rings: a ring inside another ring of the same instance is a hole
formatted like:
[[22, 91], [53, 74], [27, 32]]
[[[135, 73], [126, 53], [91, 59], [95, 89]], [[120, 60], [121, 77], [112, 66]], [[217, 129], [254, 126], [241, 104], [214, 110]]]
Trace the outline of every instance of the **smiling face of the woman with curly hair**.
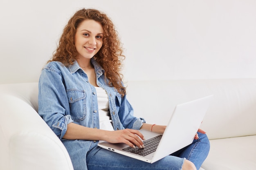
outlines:
[[102, 46], [103, 28], [99, 22], [84, 20], [76, 29], [75, 47], [78, 58], [91, 59]]

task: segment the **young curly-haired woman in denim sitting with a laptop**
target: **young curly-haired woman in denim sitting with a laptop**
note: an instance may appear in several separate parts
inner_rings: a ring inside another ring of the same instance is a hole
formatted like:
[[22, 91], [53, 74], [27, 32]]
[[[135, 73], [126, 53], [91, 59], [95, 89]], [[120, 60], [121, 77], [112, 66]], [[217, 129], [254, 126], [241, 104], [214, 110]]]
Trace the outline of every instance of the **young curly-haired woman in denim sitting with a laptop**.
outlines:
[[97, 146], [105, 140], [144, 148], [139, 129], [163, 133], [166, 128], [133, 116], [120, 73], [123, 59], [110, 18], [81, 9], [65, 26], [52, 60], [43, 68], [38, 112], [67, 148], [74, 169], [199, 169], [209, 152], [202, 130], [191, 145], [153, 164]]

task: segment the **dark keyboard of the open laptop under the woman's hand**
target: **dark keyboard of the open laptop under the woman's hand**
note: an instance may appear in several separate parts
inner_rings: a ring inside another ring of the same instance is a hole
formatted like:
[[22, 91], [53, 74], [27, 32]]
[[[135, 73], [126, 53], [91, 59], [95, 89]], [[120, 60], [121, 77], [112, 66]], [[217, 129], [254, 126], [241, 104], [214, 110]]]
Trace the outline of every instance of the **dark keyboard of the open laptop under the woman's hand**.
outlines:
[[123, 150], [137, 154], [137, 155], [146, 156], [150, 153], [155, 152], [161, 138], [162, 138], [162, 135], [159, 135], [159, 136], [156, 136], [156, 137], [153, 137], [151, 139], [144, 141], [143, 144], [144, 144], [145, 148], [142, 148], [142, 149], [139, 148], [138, 146], [136, 146], [136, 148], [132, 148], [129, 146], [127, 148], [124, 148]]

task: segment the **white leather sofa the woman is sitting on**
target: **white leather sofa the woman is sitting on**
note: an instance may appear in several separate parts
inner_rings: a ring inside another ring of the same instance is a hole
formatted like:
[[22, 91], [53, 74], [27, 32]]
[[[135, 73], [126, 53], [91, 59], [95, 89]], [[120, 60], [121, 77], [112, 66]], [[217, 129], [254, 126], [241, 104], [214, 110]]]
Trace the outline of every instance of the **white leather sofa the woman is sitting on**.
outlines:
[[[200, 170], [256, 170], [256, 78], [131, 81], [135, 115], [167, 124], [176, 104], [213, 94], [201, 128], [211, 150]], [[0, 170], [73, 170], [37, 114], [38, 83], [0, 84]], [[156, 99], [157, 97], [157, 99]]]

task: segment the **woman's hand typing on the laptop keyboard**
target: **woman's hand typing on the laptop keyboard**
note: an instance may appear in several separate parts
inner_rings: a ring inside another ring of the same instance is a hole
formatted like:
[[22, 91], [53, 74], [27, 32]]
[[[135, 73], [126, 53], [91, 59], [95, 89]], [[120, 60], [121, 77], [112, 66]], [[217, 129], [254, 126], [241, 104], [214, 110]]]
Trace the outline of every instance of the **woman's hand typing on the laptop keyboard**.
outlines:
[[[124, 129], [124, 130], [114, 130], [106, 132], [106, 141], [116, 144], [124, 143], [129, 145], [132, 148], [135, 148], [135, 145], [139, 148], [144, 148], [144, 144], [141, 139], [145, 140], [144, 136], [139, 132], [139, 130]], [[139, 137], [141, 139], [139, 139]]]

